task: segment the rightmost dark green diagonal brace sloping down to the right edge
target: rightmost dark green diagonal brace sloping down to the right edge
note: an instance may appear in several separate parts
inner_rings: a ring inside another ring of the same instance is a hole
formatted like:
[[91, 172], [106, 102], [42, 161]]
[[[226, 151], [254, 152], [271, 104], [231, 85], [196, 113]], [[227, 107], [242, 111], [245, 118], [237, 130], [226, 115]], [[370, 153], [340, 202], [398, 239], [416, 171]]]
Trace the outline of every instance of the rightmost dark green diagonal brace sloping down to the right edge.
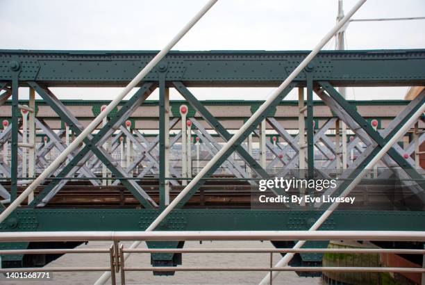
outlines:
[[[375, 131], [372, 126], [370, 126], [367, 121], [357, 112], [351, 104], [349, 104], [341, 95], [340, 93], [331, 86], [330, 83], [326, 81], [319, 81], [320, 86], [328, 92], [328, 94], [338, 102], [340, 107], [344, 109], [345, 112], [349, 114], [349, 116], [362, 127], [362, 129], [367, 133], [367, 135], [374, 140], [378, 144], [378, 147], [383, 147], [385, 143], [387, 142], [388, 138], [383, 138], [377, 131]], [[417, 106], [421, 106], [425, 103], [425, 90], [422, 91], [418, 96], [419, 102]], [[399, 152], [397, 152], [394, 147], [391, 147], [388, 152], [388, 155], [391, 156], [391, 158], [401, 167], [404, 171], [408, 173], [410, 177], [413, 179], [422, 179], [422, 175], [417, 172], [415, 167], [413, 167], [408, 161], [406, 161]], [[420, 185], [420, 184], [419, 184]], [[422, 186], [422, 188], [425, 190], [425, 186]]]

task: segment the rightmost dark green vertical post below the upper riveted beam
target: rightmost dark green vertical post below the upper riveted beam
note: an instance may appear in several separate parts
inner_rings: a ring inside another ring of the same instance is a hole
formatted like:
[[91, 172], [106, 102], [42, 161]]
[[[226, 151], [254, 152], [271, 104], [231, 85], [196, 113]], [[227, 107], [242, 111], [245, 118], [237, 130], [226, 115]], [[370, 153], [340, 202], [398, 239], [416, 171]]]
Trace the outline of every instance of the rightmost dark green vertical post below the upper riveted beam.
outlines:
[[[312, 67], [310, 67], [312, 68]], [[313, 118], [313, 76], [311, 72], [307, 74], [307, 172], [308, 178], [315, 177], [315, 121]]]

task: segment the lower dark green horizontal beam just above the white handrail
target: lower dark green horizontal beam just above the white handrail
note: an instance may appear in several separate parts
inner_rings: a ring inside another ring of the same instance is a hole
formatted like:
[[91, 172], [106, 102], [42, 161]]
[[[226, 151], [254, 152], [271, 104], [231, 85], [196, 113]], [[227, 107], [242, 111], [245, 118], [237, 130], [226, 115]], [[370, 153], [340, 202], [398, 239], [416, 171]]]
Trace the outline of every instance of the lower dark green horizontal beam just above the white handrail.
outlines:
[[[158, 209], [17, 209], [17, 223], [0, 231], [143, 231]], [[158, 230], [303, 230], [322, 211], [249, 209], [175, 209]], [[424, 211], [342, 211], [322, 230], [425, 231]], [[406, 222], [408, 220], [409, 222]]]

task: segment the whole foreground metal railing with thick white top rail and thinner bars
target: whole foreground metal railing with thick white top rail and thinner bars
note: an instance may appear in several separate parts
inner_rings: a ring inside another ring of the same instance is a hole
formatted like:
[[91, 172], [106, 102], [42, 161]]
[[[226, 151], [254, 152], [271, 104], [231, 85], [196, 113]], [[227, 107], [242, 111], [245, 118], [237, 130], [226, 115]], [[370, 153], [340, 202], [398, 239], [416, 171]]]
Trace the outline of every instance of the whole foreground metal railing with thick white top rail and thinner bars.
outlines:
[[[425, 231], [45, 231], [45, 232], [5, 232], [0, 234], [0, 242], [24, 241], [112, 241], [113, 245], [104, 249], [53, 249], [53, 250], [0, 250], [0, 254], [107, 254], [109, 266], [96, 267], [52, 267], [52, 268], [1, 268], [0, 273], [10, 272], [104, 272], [111, 273], [112, 284], [126, 284], [126, 272], [170, 272], [170, 271], [226, 271], [226, 272], [399, 272], [419, 273], [425, 276], [425, 268], [385, 268], [385, 267], [274, 267], [273, 254], [283, 253], [339, 253], [339, 254], [422, 254], [425, 250], [408, 249], [363, 249], [363, 248], [213, 248], [213, 249], [131, 249], [124, 248], [121, 241], [425, 241]], [[124, 254], [269, 254], [267, 266], [128, 266]], [[119, 273], [119, 274], [118, 274]], [[272, 274], [270, 274], [272, 277]], [[272, 278], [269, 280], [273, 283]]]

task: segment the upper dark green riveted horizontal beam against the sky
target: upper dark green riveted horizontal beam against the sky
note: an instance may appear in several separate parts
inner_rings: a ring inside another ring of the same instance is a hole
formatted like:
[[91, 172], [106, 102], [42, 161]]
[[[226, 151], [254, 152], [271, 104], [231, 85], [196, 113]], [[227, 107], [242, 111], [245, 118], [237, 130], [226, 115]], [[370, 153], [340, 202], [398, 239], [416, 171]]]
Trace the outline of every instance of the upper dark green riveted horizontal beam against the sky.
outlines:
[[[9, 65], [21, 64], [19, 81], [50, 86], [122, 86], [153, 58], [156, 51], [0, 51], [0, 80], [12, 78]], [[163, 63], [167, 81], [186, 86], [276, 86], [309, 51], [172, 51]], [[321, 51], [311, 62], [313, 80], [335, 86], [372, 83], [397, 85], [425, 80], [424, 49]], [[156, 70], [146, 80], [158, 81]], [[305, 81], [301, 72], [296, 81]], [[412, 84], [414, 85], [414, 84]]]

